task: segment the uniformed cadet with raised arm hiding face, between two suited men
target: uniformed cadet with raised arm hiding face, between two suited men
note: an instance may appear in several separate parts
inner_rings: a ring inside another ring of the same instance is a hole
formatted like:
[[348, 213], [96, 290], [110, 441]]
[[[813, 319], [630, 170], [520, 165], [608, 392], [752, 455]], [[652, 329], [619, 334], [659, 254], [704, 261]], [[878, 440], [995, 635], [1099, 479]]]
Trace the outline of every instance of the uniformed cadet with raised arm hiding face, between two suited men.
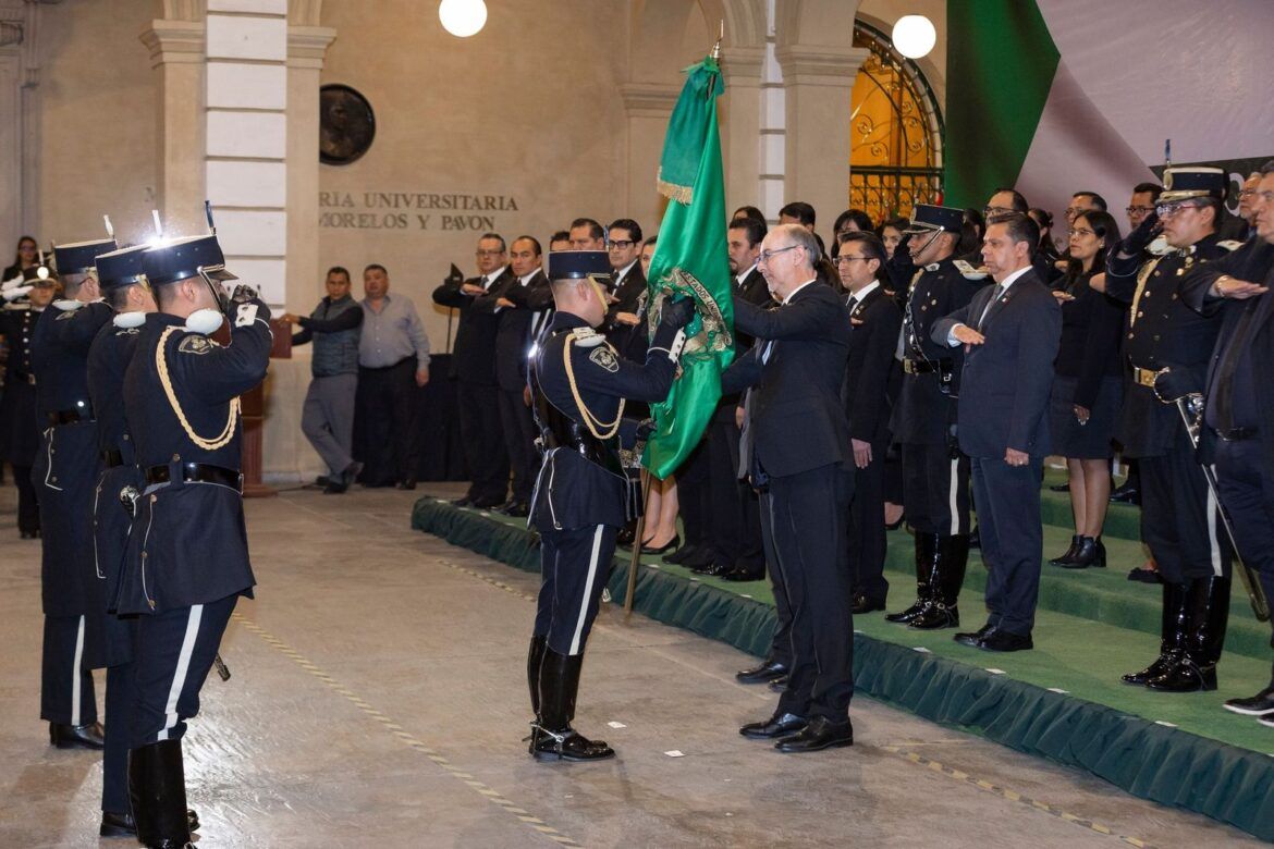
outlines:
[[905, 507], [916, 538], [916, 601], [885, 619], [924, 630], [959, 625], [956, 603], [968, 561], [970, 463], [956, 440], [963, 349], [930, 339], [940, 318], [985, 285], [956, 263], [963, 221], [963, 210], [917, 204], [908, 238], [885, 266], [896, 290], [908, 293], [898, 341], [902, 391], [889, 430], [902, 447]]

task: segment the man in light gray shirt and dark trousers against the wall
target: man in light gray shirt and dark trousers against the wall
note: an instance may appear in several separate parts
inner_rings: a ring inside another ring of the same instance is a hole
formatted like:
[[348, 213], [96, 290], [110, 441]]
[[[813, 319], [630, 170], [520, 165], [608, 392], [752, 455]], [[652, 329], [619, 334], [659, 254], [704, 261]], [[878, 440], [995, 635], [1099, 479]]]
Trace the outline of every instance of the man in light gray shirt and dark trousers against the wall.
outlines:
[[429, 337], [412, 299], [390, 294], [385, 266], [363, 269], [363, 291], [354, 396], [355, 456], [364, 463], [359, 480], [367, 486], [415, 489], [420, 454], [415, 389], [429, 382]]

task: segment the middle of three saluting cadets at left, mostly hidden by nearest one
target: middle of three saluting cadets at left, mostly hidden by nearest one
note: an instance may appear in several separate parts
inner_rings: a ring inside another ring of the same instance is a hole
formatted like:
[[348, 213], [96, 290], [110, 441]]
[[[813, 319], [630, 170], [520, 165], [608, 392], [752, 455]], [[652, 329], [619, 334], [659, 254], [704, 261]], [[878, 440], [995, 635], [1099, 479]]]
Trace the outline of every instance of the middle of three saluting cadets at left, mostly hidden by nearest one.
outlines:
[[[97, 257], [97, 281], [115, 316], [98, 331], [88, 351], [88, 393], [97, 414], [102, 475], [93, 496], [93, 556], [107, 611], [115, 612], [132, 508], [141, 491], [132, 439], [124, 420], [124, 372], [132, 359], [154, 295], [141, 269], [147, 246]], [[102, 765], [103, 838], [136, 834], [129, 807], [129, 715], [135, 700], [134, 640], [136, 617], [111, 616], [106, 630], [106, 752]], [[196, 827], [192, 825], [191, 827]]]

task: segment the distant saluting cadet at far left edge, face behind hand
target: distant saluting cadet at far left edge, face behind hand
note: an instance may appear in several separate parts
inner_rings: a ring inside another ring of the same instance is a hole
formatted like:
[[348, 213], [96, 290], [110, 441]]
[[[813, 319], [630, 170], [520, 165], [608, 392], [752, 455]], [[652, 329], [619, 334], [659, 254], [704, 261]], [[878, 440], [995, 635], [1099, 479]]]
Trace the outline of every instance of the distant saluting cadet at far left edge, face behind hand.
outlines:
[[[43, 266], [41, 266], [43, 267]], [[31, 481], [31, 467], [39, 452], [39, 420], [36, 412], [36, 372], [31, 363], [31, 337], [57, 291], [57, 280], [27, 269], [23, 281], [4, 293], [0, 336], [9, 349], [4, 392], [0, 393], [0, 462], [13, 466], [18, 488], [18, 532], [23, 540], [39, 536], [39, 504]]]

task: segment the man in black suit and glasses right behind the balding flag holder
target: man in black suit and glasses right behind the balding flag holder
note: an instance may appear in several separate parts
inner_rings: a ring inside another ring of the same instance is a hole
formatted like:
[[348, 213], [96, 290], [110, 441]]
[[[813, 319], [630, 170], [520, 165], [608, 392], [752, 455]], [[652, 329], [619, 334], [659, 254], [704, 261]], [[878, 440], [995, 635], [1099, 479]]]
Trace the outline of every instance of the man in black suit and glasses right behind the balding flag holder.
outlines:
[[885, 263], [884, 244], [874, 233], [841, 237], [836, 266], [848, 290], [850, 363], [845, 369], [845, 414], [854, 448], [854, 502], [850, 505], [850, 563], [854, 612], [884, 610], [884, 454], [889, 448], [889, 388], [898, 370], [894, 350], [902, 311], [877, 279]]

